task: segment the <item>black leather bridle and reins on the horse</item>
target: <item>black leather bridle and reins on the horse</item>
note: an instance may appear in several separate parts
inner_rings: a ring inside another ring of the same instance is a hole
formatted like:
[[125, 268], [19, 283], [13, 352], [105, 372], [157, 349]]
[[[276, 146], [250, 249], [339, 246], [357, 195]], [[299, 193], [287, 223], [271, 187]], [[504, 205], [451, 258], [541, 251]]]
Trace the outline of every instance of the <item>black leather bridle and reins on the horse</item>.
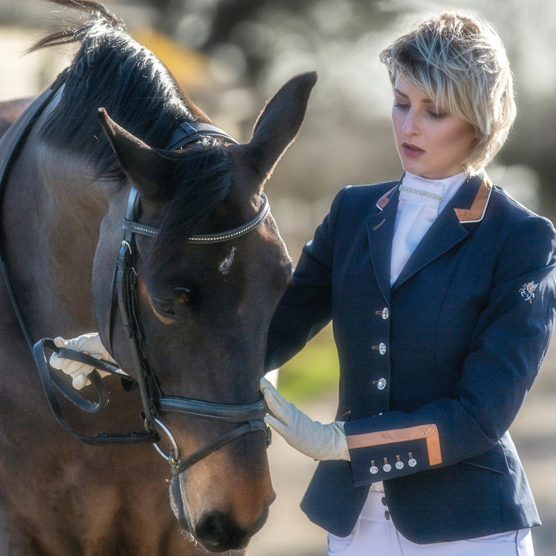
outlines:
[[[20, 118], [17, 133], [14, 130], [10, 137], [10, 142], [6, 145], [8, 154], [4, 155], [5, 160], [0, 161], [0, 193], [3, 193], [3, 182], [8, 175], [8, 169], [19, 152], [24, 138], [28, 135], [29, 130], [33, 124], [38, 120], [40, 113], [49, 104], [51, 99], [56, 95], [58, 90], [63, 85], [64, 74], [60, 74], [58, 79], [51, 85], [51, 88], [45, 91], [34, 103], [31, 105], [26, 113]], [[6, 135], [8, 135], [10, 132]], [[211, 124], [203, 123], [182, 123], [173, 133], [170, 138], [170, 148], [168, 150], [181, 149], [197, 140], [201, 140], [205, 136], [216, 136], [223, 138], [229, 142], [236, 143], [224, 133]], [[195, 235], [188, 238], [187, 243], [195, 243], [203, 245], [207, 243], [221, 243], [224, 241], [232, 240], [249, 233], [256, 229], [268, 216], [269, 205], [268, 199], [265, 195], [261, 194], [263, 203], [259, 208], [256, 216], [240, 227], [229, 229], [227, 231], [219, 232], [218, 234], [203, 234]], [[145, 338], [142, 334], [142, 327], [140, 321], [140, 313], [138, 307], [138, 293], [137, 293], [137, 274], [136, 274], [136, 240], [137, 234], [155, 238], [158, 235], [158, 229], [146, 226], [138, 222], [140, 218], [140, 195], [135, 187], [131, 187], [129, 199], [127, 204], [126, 216], [123, 220], [122, 229], [123, 237], [120, 245], [120, 252], [118, 253], [117, 264], [113, 279], [112, 288], [112, 301], [106, 319], [106, 338], [108, 343], [111, 343], [111, 329], [112, 323], [115, 320], [115, 311], [120, 311], [120, 316], [124, 325], [124, 329], [129, 338], [129, 346], [131, 350], [131, 357], [133, 366], [136, 370], [136, 378], [126, 376], [122, 378], [122, 383], [125, 384], [127, 389], [131, 389], [135, 383], [138, 385], [140, 397], [142, 402], [145, 430], [139, 432], [129, 433], [108, 433], [101, 432], [95, 436], [88, 436], [76, 432], [70, 427], [65, 420], [65, 416], [58, 402], [58, 393], [61, 393], [67, 400], [70, 400], [77, 407], [83, 411], [95, 412], [99, 411], [108, 402], [108, 393], [104, 382], [99, 377], [97, 370], [94, 370], [88, 378], [97, 391], [97, 402], [83, 398], [79, 393], [74, 391], [68, 386], [51, 368], [49, 365], [49, 357], [47, 357], [47, 350], [58, 352], [60, 357], [67, 359], [74, 359], [86, 363], [95, 369], [104, 370], [108, 373], [116, 373], [117, 366], [101, 361], [91, 357], [84, 352], [77, 352], [68, 348], [59, 348], [54, 344], [50, 338], [42, 338], [42, 340], [34, 343], [31, 335], [26, 328], [22, 313], [19, 311], [17, 301], [13, 294], [13, 289], [8, 279], [8, 272], [3, 257], [0, 257], [0, 266], [6, 281], [6, 287], [10, 295], [10, 300], [13, 309], [19, 320], [19, 325], [22, 327], [22, 332], [26, 338], [28, 345], [33, 350], [35, 363], [37, 364], [38, 372], [47, 396], [47, 401], [51, 410], [65, 430], [70, 432], [76, 439], [90, 444], [90, 445], [121, 445], [121, 444], [135, 444], [151, 442], [154, 444], [156, 450], [170, 463], [172, 475], [179, 475], [187, 468], [195, 464], [200, 459], [206, 457], [211, 452], [218, 450], [223, 445], [233, 441], [249, 432], [264, 432], [267, 438], [267, 445], [270, 443], [270, 430], [263, 421], [263, 416], [266, 413], [266, 404], [263, 398], [251, 404], [220, 404], [215, 402], [204, 402], [201, 400], [193, 400], [190, 398], [179, 398], [174, 396], [165, 396], [161, 393], [158, 387], [156, 377], [152, 372], [149, 363], [149, 357], [145, 346]], [[111, 346], [108, 346], [111, 350]], [[118, 375], [122, 376], [122, 375]], [[226, 423], [236, 423], [237, 426], [232, 430], [218, 437], [214, 441], [208, 443], [200, 450], [197, 450], [192, 455], [180, 459], [178, 445], [172, 436], [172, 433], [163, 423], [162, 416], [165, 414], [174, 413], [188, 416], [195, 416], [197, 418], [206, 418], [217, 420]], [[161, 440], [156, 430], [158, 427], [167, 436], [170, 441], [170, 451], [166, 454], [158, 445]]]

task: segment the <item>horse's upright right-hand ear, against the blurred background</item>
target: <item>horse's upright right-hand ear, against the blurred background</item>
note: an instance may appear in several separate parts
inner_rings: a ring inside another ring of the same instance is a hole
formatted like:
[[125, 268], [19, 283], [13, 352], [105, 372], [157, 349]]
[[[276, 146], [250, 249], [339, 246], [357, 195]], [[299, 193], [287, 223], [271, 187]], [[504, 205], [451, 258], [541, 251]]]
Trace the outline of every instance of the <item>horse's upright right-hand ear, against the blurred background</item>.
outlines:
[[245, 151], [263, 181], [270, 177], [300, 131], [309, 95], [316, 82], [316, 72], [293, 77], [266, 103], [259, 115]]

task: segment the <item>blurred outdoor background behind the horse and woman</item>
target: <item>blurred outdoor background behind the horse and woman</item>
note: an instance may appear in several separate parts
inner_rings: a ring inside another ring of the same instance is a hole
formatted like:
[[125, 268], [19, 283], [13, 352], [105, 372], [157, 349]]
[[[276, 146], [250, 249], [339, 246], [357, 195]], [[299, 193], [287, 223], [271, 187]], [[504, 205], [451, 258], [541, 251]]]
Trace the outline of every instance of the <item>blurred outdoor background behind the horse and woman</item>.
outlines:
[[[420, 0], [108, 0], [131, 34], [163, 60], [183, 90], [238, 140], [250, 138], [265, 99], [289, 77], [317, 70], [297, 141], [266, 191], [297, 260], [336, 191], [401, 175], [390, 124], [391, 87], [378, 53], [424, 15], [449, 7]], [[556, 218], [556, 1], [459, 0], [489, 20], [507, 48], [518, 118], [489, 167], [537, 213]], [[38, 94], [72, 49], [25, 54], [71, 10], [40, 0], [0, 0], [0, 100]], [[556, 342], [512, 434], [544, 525], [537, 556], [556, 554]], [[338, 363], [325, 329], [281, 369], [279, 388], [313, 418], [334, 418]], [[315, 467], [275, 434], [269, 451], [277, 502], [250, 555], [325, 555], [326, 539], [298, 508]], [[418, 511], [418, 500], [416, 500]]]

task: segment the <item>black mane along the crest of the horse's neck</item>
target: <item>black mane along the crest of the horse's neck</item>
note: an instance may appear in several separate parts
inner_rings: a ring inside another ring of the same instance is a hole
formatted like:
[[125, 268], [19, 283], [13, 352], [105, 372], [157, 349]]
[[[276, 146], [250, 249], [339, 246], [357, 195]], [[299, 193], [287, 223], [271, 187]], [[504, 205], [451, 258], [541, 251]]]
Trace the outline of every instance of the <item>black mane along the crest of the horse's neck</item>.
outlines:
[[133, 40], [104, 6], [85, 0], [49, 1], [82, 10], [90, 19], [70, 23], [31, 47], [35, 51], [81, 42], [58, 106], [42, 129], [45, 140], [58, 147], [71, 146], [96, 166], [108, 159], [113, 162], [97, 117], [100, 107], [152, 147], [163, 147], [180, 122], [199, 119], [163, 63]]

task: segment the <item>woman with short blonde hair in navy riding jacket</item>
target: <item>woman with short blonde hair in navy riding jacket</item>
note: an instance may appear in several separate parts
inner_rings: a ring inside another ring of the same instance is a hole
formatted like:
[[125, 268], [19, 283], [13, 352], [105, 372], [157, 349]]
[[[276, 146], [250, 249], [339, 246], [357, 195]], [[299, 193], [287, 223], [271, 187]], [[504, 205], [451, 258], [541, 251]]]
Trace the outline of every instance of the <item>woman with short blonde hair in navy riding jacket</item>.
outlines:
[[343, 555], [532, 555], [539, 525], [507, 432], [555, 319], [555, 230], [484, 167], [514, 121], [493, 29], [445, 13], [382, 51], [401, 181], [348, 187], [304, 247], [268, 368], [332, 318], [337, 420], [265, 379], [268, 423], [320, 459], [302, 502]]

